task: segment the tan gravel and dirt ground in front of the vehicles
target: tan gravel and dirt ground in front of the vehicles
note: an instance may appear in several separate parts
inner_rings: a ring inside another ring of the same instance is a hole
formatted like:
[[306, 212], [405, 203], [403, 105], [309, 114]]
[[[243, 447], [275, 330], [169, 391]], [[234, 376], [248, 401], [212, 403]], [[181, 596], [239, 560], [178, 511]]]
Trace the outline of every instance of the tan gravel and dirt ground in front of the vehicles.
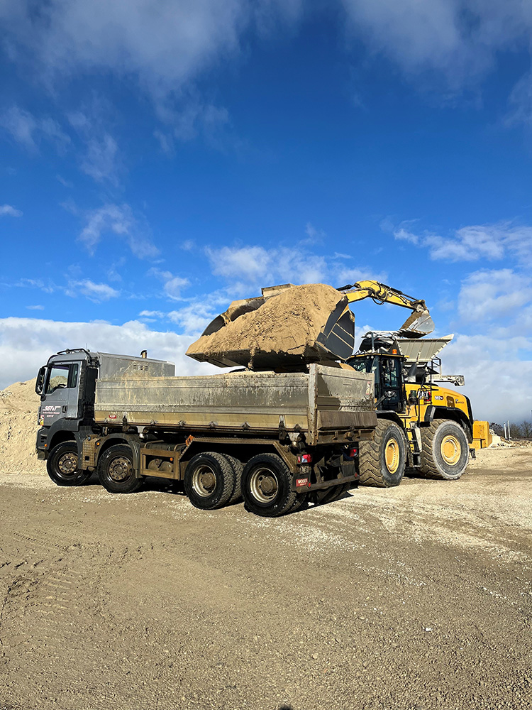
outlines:
[[531, 706], [532, 449], [279, 520], [0, 475], [3, 710]]

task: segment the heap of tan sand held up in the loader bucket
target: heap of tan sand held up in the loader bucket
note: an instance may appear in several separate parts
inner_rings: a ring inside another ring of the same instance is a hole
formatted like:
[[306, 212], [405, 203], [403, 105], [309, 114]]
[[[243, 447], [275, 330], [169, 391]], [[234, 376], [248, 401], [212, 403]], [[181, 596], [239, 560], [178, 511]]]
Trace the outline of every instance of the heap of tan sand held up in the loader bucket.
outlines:
[[294, 286], [268, 298], [211, 335], [192, 343], [187, 355], [214, 364], [275, 367], [331, 358], [316, 345], [331, 313], [347, 299], [321, 283]]

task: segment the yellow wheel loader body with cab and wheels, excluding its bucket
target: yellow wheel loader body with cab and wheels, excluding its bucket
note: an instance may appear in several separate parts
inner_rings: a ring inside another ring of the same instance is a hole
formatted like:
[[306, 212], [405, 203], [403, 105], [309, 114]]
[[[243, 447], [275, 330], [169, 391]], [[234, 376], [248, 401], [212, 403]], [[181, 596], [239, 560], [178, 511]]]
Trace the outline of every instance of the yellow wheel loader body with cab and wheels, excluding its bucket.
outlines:
[[375, 376], [379, 425], [372, 442], [360, 445], [360, 484], [397, 486], [406, 466], [426, 478], [447, 481], [465, 471], [472, 444], [471, 403], [440, 385], [463, 384], [461, 375], [441, 374], [437, 354], [450, 339], [367, 333], [348, 359], [355, 370]]

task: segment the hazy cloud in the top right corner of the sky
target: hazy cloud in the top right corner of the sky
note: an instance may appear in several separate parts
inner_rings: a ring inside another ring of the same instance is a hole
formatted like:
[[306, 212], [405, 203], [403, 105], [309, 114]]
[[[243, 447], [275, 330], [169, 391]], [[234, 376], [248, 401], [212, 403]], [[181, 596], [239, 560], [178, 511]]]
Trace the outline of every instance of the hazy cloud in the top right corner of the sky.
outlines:
[[451, 89], [477, 80], [499, 50], [528, 48], [521, 0], [342, 0], [351, 31], [408, 74], [441, 72]]

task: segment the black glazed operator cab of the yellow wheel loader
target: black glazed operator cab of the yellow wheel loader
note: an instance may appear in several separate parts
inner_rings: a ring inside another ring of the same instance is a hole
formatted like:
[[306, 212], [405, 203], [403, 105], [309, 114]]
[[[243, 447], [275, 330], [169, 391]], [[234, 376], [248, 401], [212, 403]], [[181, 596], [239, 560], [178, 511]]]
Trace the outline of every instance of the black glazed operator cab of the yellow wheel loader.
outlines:
[[400, 355], [364, 353], [348, 360], [358, 372], [375, 377], [377, 411], [403, 412], [406, 401], [403, 382], [403, 358]]

